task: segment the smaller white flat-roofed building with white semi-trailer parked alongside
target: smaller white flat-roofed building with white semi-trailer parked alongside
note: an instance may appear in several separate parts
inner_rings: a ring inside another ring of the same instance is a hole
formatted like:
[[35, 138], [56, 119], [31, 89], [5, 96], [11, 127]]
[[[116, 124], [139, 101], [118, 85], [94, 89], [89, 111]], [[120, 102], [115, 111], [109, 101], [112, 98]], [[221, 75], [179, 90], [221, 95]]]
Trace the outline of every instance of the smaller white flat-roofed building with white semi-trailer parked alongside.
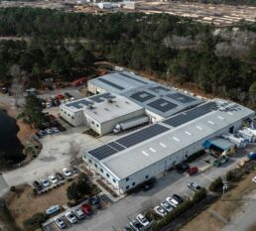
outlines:
[[144, 115], [145, 110], [126, 97], [107, 92], [61, 104], [60, 113], [72, 126], [84, 125], [104, 135], [117, 123]]

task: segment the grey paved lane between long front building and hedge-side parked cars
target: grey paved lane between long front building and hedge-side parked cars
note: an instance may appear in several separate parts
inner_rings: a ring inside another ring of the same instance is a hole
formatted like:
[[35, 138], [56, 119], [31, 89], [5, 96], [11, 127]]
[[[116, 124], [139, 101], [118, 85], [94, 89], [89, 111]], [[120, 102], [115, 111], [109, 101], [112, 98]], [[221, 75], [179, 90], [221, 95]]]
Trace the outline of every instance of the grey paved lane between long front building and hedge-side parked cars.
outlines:
[[[246, 152], [255, 148], [255, 145], [250, 145]], [[187, 184], [191, 181], [196, 181], [198, 184], [207, 187], [210, 182], [227, 173], [237, 166], [239, 158], [244, 157], [245, 151], [239, 151], [238, 154], [231, 158], [228, 163], [220, 168], [210, 167], [203, 173], [198, 173], [193, 176], [171, 172], [163, 176], [157, 181], [156, 186], [147, 191], [139, 192], [127, 196], [118, 202], [115, 202], [106, 210], [99, 210], [91, 219], [84, 222], [72, 225], [70, 231], [113, 231], [121, 229], [125, 224], [129, 223], [129, 219], [134, 218], [141, 211], [152, 208], [164, 200], [167, 196], [172, 196], [173, 193], [178, 193], [184, 196], [190, 196], [192, 191]], [[195, 166], [206, 166], [202, 160], [193, 163]], [[230, 229], [231, 230], [231, 229]], [[243, 229], [240, 229], [243, 230]]]

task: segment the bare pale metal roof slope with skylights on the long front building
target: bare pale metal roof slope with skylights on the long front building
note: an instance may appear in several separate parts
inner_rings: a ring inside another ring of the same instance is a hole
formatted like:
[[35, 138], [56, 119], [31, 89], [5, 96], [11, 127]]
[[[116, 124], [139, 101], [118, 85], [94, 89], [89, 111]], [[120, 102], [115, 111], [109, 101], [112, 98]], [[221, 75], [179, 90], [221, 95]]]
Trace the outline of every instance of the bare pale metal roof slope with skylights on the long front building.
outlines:
[[[217, 102], [218, 105], [226, 103], [223, 100]], [[211, 138], [217, 131], [236, 121], [254, 115], [254, 111], [249, 108], [241, 105], [239, 105], [239, 108], [235, 111], [214, 110], [176, 128], [161, 123], [171, 129], [98, 161], [98, 163], [110, 173], [116, 175], [117, 178], [125, 178], [189, 147], [201, 139]]]

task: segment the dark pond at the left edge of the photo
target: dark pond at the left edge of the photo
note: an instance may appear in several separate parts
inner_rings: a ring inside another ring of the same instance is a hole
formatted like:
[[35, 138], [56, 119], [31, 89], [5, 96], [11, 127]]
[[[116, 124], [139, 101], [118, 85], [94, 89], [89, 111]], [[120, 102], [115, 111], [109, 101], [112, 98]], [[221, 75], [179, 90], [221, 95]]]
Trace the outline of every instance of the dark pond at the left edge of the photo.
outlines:
[[17, 137], [19, 127], [16, 120], [0, 109], [0, 161], [17, 164], [24, 160], [23, 145]]

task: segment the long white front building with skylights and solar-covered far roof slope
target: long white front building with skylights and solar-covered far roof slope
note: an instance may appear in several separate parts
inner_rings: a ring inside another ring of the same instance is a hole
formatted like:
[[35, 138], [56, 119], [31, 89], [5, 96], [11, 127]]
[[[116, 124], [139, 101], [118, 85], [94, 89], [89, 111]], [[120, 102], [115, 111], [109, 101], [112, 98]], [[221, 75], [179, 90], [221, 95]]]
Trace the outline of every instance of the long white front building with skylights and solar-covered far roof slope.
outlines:
[[94, 150], [84, 150], [83, 160], [124, 193], [203, 150], [211, 138], [235, 133], [254, 115], [244, 106], [214, 99]]

